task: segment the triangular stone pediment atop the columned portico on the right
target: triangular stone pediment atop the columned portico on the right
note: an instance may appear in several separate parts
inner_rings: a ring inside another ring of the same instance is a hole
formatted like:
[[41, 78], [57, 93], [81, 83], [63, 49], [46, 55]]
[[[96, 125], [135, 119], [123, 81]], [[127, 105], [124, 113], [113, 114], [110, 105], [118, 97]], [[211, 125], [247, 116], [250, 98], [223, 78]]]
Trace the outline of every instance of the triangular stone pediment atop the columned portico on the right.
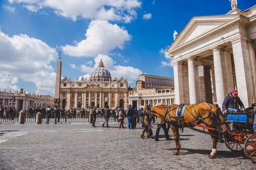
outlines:
[[215, 29], [218, 29], [225, 23], [234, 19], [234, 15], [212, 15], [204, 17], [192, 17], [189, 23], [178, 34], [178, 37], [172, 42], [167, 51], [177, 48], [187, 42], [192, 42], [199, 37], [202, 37]]

